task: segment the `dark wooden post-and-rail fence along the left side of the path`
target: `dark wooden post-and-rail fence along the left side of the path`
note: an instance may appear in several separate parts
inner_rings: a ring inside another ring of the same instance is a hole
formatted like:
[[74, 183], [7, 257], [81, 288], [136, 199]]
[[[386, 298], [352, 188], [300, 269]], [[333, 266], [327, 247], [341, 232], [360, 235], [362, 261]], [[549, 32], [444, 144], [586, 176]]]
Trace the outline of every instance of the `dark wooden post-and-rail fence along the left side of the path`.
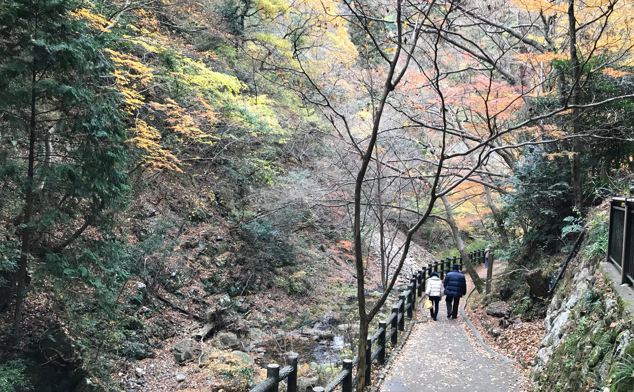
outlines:
[[[472, 263], [484, 262], [484, 250], [478, 250], [469, 253], [469, 260]], [[387, 341], [391, 346], [395, 346], [398, 341], [398, 332], [405, 330], [405, 317], [413, 319], [416, 308], [416, 297], [422, 297], [425, 291], [425, 281], [432, 274], [432, 271], [438, 273], [441, 279], [444, 274], [451, 271], [452, 265], [460, 265], [463, 269], [462, 257], [447, 257], [435, 263], [427, 264], [422, 270], [418, 270], [416, 274], [412, 274], [408, 290], [403, 294], [399, 294], [398, 302], [392, 307], [392, 313], [385, 321], [378, 322], [378, 330], [368, 338], [365, 346], [365, 383], [370, 384], [372, 362], [378, 360], [379, 364], [385, 363], [385, 348]], [[390, 326], [389, 331], [387, 326]], [[372, 350], [372, 347], [376, 348]], [[266, 380], [251, 389], [251, 392], [278, 392], [278, 384], [284, 379], [287, 380], [287, 392], [297, 392], [297, 357], [287, 358], [288, 366], [280, 369], [278, 364], [269, 364], [266, 368]], [[333, 381], [325, 387], [317, 386], [313, 388], [313, 392], [332, 392], [341, 385], [342, 392], [351, 392], [353, 390], [353, 367], [357, 364], [357, 356], [353, 359], [344, 359], [342, 370]]]

